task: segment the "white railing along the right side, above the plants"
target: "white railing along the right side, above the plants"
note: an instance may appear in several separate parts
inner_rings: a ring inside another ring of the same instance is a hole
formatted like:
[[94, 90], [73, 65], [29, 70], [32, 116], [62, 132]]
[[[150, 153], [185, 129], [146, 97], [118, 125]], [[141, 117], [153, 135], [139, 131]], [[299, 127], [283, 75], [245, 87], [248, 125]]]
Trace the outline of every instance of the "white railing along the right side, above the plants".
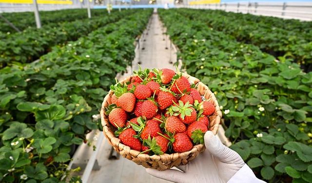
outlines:
[[254, 15], [273, 16], [284, 19], [298, 19], [304, 21], [312, 20], [312, 3], [279, 4], [269, 3], [219, 3], [199, 5], [176, 5], [176, 7], [187, 7], [194, 9], [224, 10], [237, 13], [249, 13]]

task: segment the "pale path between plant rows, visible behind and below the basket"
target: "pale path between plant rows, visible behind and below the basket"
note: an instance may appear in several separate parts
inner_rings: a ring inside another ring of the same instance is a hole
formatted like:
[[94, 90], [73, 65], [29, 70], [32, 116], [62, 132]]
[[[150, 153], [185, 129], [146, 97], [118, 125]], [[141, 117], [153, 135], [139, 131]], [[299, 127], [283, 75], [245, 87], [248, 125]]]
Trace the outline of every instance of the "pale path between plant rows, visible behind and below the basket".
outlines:
[[[136, 49], [136, 58], [133, 67], [128, 68], [128, 73], [118, 76], [118, 80], [131, 75], [132, 69], [137, 70], [137, 63], [142, 68], [171, 68], [175, 69], [170, 61], [176, 61], [174, 48], [171, 48], [168, 38], [163, 35], [161, 22], [154, 12], [147, 29], [144, 31]], [[167, 49], [166, 49], [167, 48]], [[88, 183], [169, 183], [157, 179], [145, 172], [143, 166], [139, 166], [123, 157], [109, 160], [111, 146], [104, 138], [97, 160], [100, 170], [92, 171]], [[113, 156], [116, 156], [114, 151]]]

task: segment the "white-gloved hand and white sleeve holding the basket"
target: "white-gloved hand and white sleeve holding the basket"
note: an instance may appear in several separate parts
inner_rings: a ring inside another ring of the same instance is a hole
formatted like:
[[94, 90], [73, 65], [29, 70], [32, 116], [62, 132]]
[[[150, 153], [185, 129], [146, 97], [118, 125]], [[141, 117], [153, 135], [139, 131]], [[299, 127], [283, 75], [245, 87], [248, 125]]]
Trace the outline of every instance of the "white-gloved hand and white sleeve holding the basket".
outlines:
[[211, 131], [206, 132], [204, 140], [206, 150], [187, 165], [177, 167], [181, 171], [158, 171], [152, 168], [146, 171], [175, 183], [264, 183], [255, 177], [234, 150], [223, 145]]

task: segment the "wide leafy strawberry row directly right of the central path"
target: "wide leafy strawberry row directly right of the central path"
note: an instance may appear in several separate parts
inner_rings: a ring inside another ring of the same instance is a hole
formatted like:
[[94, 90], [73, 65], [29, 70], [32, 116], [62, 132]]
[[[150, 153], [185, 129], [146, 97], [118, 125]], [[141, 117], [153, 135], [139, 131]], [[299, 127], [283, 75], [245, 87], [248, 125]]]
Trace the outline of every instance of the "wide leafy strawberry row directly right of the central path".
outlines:
[[311, 183], [312, 73], [203, 20], [181, 19], [185, 11], [159, 13], [183, 67], [215, 92], [231, 148], [261, 179]]

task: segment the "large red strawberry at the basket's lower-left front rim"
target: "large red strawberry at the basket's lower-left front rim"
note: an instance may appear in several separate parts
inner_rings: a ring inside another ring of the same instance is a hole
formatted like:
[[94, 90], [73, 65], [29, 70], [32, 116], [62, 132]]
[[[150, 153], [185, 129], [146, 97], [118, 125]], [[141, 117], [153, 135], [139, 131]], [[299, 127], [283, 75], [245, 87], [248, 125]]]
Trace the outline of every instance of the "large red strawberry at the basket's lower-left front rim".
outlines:
[[140, 151], [142, 144], [138, 139], [133, 137], [134, 135], [137, 135], [136, 131], [132, 128], [128, 128], [121, 132], [119, 139], [123, 144], [128, 145], [131, 149]]

